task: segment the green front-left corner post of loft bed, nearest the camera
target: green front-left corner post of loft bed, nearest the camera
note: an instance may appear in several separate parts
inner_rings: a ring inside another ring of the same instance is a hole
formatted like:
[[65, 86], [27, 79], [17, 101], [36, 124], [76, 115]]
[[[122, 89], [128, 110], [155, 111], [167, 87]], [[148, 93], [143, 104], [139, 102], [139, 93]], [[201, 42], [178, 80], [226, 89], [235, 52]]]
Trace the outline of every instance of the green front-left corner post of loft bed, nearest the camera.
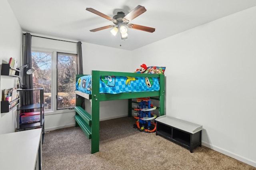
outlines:
[[92, 139], [91, 153], [100, 150], [100, 73], [92, 71]]

